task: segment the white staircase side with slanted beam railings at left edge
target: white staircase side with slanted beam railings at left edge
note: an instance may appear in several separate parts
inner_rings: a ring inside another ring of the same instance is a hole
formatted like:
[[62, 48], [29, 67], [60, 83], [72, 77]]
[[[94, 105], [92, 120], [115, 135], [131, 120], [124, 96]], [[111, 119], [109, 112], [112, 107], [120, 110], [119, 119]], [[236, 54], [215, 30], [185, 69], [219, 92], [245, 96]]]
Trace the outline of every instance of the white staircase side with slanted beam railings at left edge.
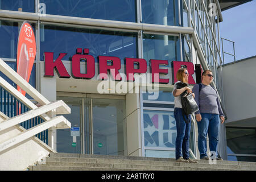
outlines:
[[2, 59], [0, 71], [36, 102], [0, 77], [0, 171], [24, 170], [56, 152], [51, 132], [71, 127], [66, 118], [56, 115], [70, 114], [71, 109], [63, 101], [48, 101]]

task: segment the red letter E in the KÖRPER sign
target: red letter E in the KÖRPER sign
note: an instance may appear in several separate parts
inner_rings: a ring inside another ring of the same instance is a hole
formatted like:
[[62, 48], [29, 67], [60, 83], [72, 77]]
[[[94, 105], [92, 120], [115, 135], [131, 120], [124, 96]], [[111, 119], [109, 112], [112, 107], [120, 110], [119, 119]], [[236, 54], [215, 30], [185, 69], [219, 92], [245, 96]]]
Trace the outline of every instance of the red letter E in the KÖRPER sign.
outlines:
[[155, 77], [158, 78], [158, 82], [159, 84], [168, 84], [169, 83], [169, 78], [159, 78], [159, 73], [164, 73], [164, 74], [168, 74], [168, 69], [160, 69], [159, 65], [168, 65], [168, 61], [167, 60], [154, 60], [151, 59], [150, 60], [151, 63], [151, 73], [152, 73], [152, 82], [157, 82], [157, 80], [155, 80]]

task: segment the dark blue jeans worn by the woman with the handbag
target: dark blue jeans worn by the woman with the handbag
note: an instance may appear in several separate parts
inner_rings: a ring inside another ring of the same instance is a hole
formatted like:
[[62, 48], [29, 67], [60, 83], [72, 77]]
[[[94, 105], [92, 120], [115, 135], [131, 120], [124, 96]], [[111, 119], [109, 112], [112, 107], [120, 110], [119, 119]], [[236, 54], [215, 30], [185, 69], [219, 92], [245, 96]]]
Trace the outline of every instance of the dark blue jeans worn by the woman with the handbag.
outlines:
[[[186, 123], [182, 116], [181, 108], [174, 108], [174, 118], [176, 121], [177, 138], [175, 143], [176, 160], [183, 156], [184, 159], [189, 158], [189, 136], [191, 129], [191, 115], [188, 115], [189, 123]], [[187, 117], [185, 116], [185, 119]]]

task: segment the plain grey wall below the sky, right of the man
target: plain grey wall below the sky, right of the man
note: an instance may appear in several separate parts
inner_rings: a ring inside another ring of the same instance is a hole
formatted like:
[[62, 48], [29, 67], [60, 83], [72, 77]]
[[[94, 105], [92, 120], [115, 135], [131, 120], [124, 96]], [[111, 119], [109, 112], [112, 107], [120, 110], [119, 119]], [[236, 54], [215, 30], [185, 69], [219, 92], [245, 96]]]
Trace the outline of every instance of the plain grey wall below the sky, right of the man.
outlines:
[[[227, 125], [231, 122], [256, 117], [256, 56], [227, 64], [222, 67], [225, 111]], [[254, 119], [256, 126], [256, 119]], [[242, 122], [243, 127], [246, 122]]]

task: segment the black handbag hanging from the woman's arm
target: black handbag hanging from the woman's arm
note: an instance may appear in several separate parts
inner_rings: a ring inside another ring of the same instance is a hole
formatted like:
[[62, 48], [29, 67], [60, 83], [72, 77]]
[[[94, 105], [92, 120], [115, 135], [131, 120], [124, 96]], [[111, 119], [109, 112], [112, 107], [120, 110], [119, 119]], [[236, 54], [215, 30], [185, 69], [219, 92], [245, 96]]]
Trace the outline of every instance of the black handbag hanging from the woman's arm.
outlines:
[[[186, 83], [178, 82], [176, 84], [177, 89], [183, 88], [185, 86], [188, 86]], [[182, 105], [182, 111], [183, 111], [183, 119], [186, 123], [189, 123], [188, 115], [195, 113], [199, 110], [198, 105], [196, 104], [196, 101], [191, 93], [188, 93], [187, 90], [185, 90], [183, 93], [180, 94], [181, 98], [181, 105]], [[185, 119], [184, 115], [187, 116], [187, 119]]]

